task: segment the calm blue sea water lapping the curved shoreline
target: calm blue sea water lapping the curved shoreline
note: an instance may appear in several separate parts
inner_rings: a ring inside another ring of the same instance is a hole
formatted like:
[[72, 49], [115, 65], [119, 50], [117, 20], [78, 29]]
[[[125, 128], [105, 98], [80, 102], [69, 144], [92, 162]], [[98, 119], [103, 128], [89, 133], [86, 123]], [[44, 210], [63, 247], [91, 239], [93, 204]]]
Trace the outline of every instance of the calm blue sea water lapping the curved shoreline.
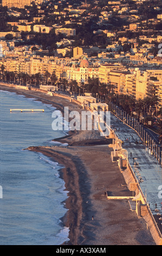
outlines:
[[[22, 149], [51, 145], [65, 133], [52, 130], [51, 105], [3, 90], [0, 98], [0, 244], [60, 245], [68, 240], [68, 228], [60, 225], [67, 211], [67, 191], [59, 177], [62, 166]], [[45, 112], [10, 113], [10, 108]]]

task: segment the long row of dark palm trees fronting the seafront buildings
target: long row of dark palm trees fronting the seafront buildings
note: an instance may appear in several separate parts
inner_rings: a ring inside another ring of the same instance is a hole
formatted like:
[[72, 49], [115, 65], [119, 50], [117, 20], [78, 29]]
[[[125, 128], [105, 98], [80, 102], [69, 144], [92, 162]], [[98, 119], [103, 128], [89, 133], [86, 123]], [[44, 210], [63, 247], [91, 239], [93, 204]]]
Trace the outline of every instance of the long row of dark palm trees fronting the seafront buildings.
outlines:
[[[28, 84], [34, 86], [40, 86], [43, 84], [52, 84], [61, 83], [63, 90], [67, 88], [72, 93], [84, 94], [85, 92], [91, 93], [95, 97], [100, 97], [103, 101], [111, 101], [115, 103], [117, 106], [123, 108], [124, 111], [131, 114], [132, 112], [136, 112], [137, 117], [147, 117], [147, 116], [157, 116], [157, 103], [158, 97], [146, 97], [145, 99], [139, 99], [136, 101], [130, 95], [124, 94], [115, 94], [115, 88], [113, 84], [106, 84], [99, 82], [98, 78], [88, 78], [88, 81], [85, 83], [78, 84], [77, 81], [67, 81], [65, 78], [59, 78], [56, 76], [55, 72], [52, 75], [45, 71], [42, 75], [40, 72], [34, 75], [29, 76], [26, 73], [17, 73], [13, 71], [5, 71], [5, 66], [2, 64], [0, 68], [2, 74], [3, 81], [9, 82], [18, 82], [21, 84]], [[162, 112], [162, 111], [161, 111]]]

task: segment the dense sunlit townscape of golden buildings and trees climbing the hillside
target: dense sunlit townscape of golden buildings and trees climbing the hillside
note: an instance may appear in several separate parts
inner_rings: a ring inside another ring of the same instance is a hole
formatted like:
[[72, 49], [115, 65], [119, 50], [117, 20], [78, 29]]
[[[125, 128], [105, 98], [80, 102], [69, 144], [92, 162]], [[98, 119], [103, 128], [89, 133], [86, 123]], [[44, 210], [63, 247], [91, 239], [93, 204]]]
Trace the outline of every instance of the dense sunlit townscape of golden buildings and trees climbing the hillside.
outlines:
[[2, 0], [1, 81], [91, 93], [162, 136], [161, 1]]

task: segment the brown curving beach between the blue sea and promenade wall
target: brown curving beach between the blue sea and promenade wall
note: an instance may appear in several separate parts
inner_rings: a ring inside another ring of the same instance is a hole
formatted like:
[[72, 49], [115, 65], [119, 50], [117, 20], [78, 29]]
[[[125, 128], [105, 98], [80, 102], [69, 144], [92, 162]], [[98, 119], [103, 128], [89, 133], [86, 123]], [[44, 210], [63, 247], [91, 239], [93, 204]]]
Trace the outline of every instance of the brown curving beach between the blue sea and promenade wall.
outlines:
[[[52, 104], [61, 112], [64, 106], [82, 111], [76, 103], [57, 96], [5, 86], [0, 86], [0, 89], [34, 97]], [[101, 137], [98, 131], [71, 131], [56, 141], [66, 142], [68, 147], [35, 147], [31, 150], [39, 151], [64, 166], [60, 169], [60, 177], [68, 191], [65, 202], [68, 211], [62, 220], [63, 225], [70, 228], [70, 241], [65, 244], [155, 245], [145, 220], [130, 210], [128, 199], [108, 200], [105, 196], [105, 191], [117, 196], [132, 193], [117, 163], [111, 161], [110, 141]]]

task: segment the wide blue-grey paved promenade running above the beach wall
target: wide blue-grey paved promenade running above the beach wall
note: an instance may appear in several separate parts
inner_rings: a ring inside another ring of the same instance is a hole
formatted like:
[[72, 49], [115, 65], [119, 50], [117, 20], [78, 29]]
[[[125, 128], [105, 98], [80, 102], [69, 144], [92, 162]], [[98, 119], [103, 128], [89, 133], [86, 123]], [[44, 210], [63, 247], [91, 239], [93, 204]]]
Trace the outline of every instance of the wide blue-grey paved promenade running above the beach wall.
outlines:
[[[141, 142], [138, 134], [111, 114], [111, 128], [114, 129], [114, 126], [117, 129], [115, 131], [116, 136], [124, 142], [122, 147], [128, 150], [128, 160], [136, 178], [138, 180], [141, 178], [140, 187], [146, 195], [152, 213], [154, 214], [155, 204], [157, 204], [157, 209], [162, 214], [162, 199], [158, 197], [160, 192], [158, 187], [162, 186], [162, 168], [159, 162], [143, 144], [136, 144], [136, 141]], [[132, 153], [132, 156], [130, 153]], [[134, 161], [138, 165], [135, 166]]]

